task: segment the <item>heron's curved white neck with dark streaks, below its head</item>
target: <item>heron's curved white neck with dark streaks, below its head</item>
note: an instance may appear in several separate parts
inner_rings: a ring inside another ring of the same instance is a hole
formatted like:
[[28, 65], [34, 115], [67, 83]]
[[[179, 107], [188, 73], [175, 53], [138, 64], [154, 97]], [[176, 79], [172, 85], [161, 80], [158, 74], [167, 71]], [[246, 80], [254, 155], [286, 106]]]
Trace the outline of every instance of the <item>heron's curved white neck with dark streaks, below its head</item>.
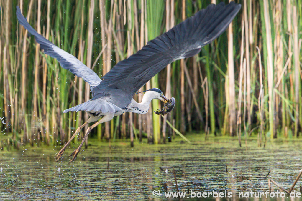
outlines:
[[156, 96], [154, 96], [154, 93], [152, 91], [147, 91], [143, 96], [142, 102], [138, 103], [134, 99], [132, 99], [127, 111], [146, 114], [149, 111], [150, 102], [155, 98]]

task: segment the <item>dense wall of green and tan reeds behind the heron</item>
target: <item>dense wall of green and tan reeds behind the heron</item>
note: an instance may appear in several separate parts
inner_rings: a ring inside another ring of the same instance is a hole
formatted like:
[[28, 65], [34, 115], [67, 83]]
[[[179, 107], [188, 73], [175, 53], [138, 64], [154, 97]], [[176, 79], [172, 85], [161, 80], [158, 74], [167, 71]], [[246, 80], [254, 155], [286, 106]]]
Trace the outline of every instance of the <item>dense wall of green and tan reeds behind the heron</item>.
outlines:
[[[140, 90], [158, 87], [175, 97], [171, 114], [155, 115], [153, 110], [161, 105], [153, 101], [148, 114], [126, 113], [99, 125], [92, 135], [100, 140], [147, 137], [150, 143], [161, 143], [171, 141], [172, 124], [167, 122], [173, 122], [182, 134], [205, 131], [237, 135], [239, 140], [242, 135], [258, 135], [259, 146], [266, 136], [298, 137], [302, 2], [236, 2], [242, 9], [226, 33], [193, 58], [175, 61]], [[18, 24], [17, 5], [38, 33], [101, 77], [148, 40], [210, 3], [0, 1], [0, 148], [62, 144], [88, 118], [84, 112], [62, 113], [90, 98], [88, 84], [41, 52], [34, 37]], [[134, 98], [140, 101], [142, 95]]]

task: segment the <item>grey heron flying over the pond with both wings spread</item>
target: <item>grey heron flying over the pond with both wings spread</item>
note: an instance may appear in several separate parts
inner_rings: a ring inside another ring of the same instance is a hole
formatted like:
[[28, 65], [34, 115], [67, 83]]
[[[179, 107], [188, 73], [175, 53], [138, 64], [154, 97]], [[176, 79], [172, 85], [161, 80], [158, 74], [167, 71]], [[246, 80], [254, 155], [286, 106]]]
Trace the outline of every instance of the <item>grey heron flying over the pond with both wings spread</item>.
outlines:
[[88, 127], [81, 144], [70, 155], [72, 159], [69, 163], [76, 159], [88, 133], [98, 124], [110, 121], [114, 116], [121, 115], [126, 111], [146, 114], [152, 99], [167, 102], [168, 99], [157, 88], [147, 90], [140, 103], [136, 102], [132, 97], [165, 66], [178, 59], [198, 54], [201, 51], [201, 47], [220, 36], [229, 26], [240, 8], [241, 5], [234, 2], [230, 2], [228, 5], [225, 5], [223, 2], [217, 5], [209, 5], [166, 33], [147, 42], [147, 45], [137, 53], [118, 62], [101, 80], [94, 71], [76, 57], [55, 46], [52, 42], [37, 33], [28, 24], [26, 18], [21, 14], [20, 8], [17, 6], [16, 14], [19, 23], [31, 35], [34, 35], [44, 53], [56, 58], [63, 68], [78, 77], [82, 77], [90, 85], [92, 99], [63, 111], [63, 113], [86, 111], [90, 118], [77, 128], [73, 136], [56, 155], [56, 161], [62, 157], [71, 140], [86, 124], [98, 121]]

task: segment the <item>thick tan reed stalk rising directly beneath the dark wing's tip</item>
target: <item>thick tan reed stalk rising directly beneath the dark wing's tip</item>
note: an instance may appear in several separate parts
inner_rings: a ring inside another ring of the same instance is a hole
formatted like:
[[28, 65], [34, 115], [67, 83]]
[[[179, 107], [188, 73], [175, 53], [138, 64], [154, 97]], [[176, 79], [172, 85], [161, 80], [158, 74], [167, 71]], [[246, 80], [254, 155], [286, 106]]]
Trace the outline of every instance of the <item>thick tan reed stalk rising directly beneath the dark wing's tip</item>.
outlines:
[[[230, 1], [231, 2], [231, 1]], [[235, 72], [233, 56], [233, 23], [228, 28], [228, 77], [229, 77], [229, 124], [230, 135], [235, 135], [236, 131], [236, 96], [235, 96]]]

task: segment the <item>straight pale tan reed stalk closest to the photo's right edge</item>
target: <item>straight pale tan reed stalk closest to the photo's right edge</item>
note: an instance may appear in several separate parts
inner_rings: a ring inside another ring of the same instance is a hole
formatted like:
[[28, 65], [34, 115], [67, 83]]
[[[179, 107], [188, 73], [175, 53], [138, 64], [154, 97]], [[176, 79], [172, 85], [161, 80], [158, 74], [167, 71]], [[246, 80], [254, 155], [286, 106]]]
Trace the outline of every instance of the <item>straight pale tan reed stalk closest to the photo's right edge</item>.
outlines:
[[299, 125], [299, 88], [300, 88], [300, 61], [299, 61], [299, 49], [298, 49], [298, 20], [297, 20], [297, 8], [293, 6], [293, 26], [294, 26], [294, 64], [295, 64], [295, 129], [294, 136], [298, 136], [298, 125]]

